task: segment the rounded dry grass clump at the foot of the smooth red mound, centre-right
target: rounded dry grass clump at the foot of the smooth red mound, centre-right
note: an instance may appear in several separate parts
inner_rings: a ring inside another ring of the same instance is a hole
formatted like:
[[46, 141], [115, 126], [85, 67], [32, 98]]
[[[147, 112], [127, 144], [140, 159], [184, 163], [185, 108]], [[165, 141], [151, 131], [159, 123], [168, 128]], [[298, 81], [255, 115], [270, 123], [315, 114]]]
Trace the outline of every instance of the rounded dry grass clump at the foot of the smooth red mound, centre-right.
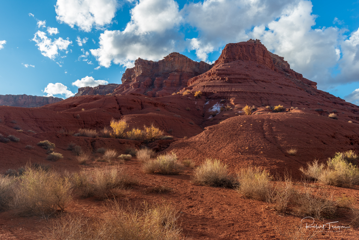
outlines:
[[234, 188], [235, 178], [228, 173], [227, 166], [217, 159], [207, 158], [193, 173], [192, 181], [213, 187]]

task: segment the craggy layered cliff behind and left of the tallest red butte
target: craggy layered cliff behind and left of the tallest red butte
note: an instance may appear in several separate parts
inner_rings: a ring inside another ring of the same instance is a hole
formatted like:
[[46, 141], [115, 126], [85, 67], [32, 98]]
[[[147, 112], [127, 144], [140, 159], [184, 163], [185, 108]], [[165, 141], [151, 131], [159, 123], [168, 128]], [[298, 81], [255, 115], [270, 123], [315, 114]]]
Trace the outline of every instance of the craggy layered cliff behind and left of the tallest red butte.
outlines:
[[122, 84], [113, 95], [136, 92], [151, 97], [168, 96], [187, 87], [190, 78], [207, 72], [211, 67], [213, 65], [195, 62], [179, 53], [171, 53], [158, 62], [139, 58], [135, 67], [126, 69]]

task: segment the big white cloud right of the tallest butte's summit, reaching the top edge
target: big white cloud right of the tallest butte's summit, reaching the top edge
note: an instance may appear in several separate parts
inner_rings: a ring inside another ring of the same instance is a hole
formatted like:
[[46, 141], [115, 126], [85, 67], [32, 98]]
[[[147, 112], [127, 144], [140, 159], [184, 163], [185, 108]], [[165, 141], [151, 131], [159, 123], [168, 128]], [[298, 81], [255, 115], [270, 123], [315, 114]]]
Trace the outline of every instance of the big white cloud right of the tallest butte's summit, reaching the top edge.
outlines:
[[322, 87], [325, 82], [334, 81], [329, 67], [339, 59], [337, 39], [341, 32], [336, 27], [312, 29], [317, 16], [311, 13], [312, 3], [299, 1], [286, 8], [279, 19], [256, 26], [249, 35], [261, 39], [270, 51], [283, 56], [291, 68]]

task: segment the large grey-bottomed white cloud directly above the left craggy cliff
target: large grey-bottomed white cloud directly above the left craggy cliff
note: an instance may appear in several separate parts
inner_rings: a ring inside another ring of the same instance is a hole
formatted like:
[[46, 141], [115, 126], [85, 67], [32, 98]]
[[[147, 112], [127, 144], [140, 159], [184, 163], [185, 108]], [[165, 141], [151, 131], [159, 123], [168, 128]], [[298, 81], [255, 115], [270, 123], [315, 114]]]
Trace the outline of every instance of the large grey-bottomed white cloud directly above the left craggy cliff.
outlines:
[[125, 30], [101, 33], [100, 47], [91, 49], [91, 54], [107, 68], [111, 62], [133, 67], [137, 58], [162, 59], [175, 49], [184, 49], [176, 28], [181, 19], [173, 0], [140, 0]]

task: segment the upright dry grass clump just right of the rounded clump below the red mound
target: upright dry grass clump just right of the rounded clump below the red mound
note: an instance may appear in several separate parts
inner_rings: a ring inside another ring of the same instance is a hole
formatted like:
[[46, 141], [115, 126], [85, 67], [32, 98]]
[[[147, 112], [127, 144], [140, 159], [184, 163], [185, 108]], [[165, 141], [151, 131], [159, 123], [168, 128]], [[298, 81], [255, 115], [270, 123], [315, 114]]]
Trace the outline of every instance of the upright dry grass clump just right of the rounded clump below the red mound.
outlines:
[[241, 168], [238, 173], [237, 190], [247, 198], [268, 200], [271, 191], [271, 175], [259, 167]]

